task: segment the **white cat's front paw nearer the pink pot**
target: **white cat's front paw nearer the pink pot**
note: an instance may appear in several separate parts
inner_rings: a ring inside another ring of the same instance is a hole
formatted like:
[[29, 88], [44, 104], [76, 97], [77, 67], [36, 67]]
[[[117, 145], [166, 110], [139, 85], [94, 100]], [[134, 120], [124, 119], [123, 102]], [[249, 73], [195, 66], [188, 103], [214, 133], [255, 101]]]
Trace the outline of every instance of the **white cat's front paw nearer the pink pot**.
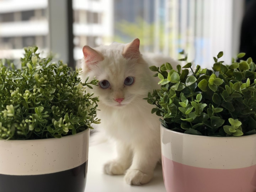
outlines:
[[128, 169], [126, 175], [124, 176], [124, 180], [129, 185], [142, 185], [148, 183], [153, 175], [153, 173], [146, 174], [141, 172], [140, 170]]

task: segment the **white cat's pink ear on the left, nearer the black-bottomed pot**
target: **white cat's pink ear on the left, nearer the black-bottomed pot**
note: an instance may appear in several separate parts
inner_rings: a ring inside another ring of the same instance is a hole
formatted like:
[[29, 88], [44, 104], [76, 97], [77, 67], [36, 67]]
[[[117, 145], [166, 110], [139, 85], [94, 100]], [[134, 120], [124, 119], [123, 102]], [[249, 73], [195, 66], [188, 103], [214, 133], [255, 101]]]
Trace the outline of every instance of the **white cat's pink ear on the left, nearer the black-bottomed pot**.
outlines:
[[84, 53], [85, 64], [89, 68], [104, 59], [104, 57], [100, 53], [98, 53], [96, 50], [92, 49], [89, 46], [84, 46], [82, 50]]

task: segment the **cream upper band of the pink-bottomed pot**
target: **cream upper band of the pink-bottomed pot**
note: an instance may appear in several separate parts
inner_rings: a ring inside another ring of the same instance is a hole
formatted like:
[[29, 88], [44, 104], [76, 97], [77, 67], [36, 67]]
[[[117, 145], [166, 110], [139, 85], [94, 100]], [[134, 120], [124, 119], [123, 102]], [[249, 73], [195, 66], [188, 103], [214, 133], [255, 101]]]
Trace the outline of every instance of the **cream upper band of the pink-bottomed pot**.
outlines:
[[256, 165], [256, 134], [207, 137], [177, 133], [161, 125], [161, 150], [166, 158], [184, 165], [239, 169]]

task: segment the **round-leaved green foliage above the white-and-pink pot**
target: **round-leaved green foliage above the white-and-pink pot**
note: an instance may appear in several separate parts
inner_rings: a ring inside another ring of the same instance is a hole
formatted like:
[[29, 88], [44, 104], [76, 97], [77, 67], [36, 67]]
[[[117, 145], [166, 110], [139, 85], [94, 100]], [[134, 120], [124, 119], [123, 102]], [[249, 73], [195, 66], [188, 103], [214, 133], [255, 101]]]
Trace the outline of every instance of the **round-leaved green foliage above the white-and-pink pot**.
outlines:
[[[187, 60], [185, 55], [183, 61]], [[151, 66], [160, 79], [159, 90], [144, 98], [155, 105], [152, 113], [162, 117], [168, 129], [194, 135], [217, 137], [241, 136], [256, 133], [256, 65], [249, 58], [232, 59], [225, 65], [214, 57], [212, 70], [192, 69], [187, 63], [174, 70], [169, 63]], [[182, 69], [182, 70], [181, 70]]]

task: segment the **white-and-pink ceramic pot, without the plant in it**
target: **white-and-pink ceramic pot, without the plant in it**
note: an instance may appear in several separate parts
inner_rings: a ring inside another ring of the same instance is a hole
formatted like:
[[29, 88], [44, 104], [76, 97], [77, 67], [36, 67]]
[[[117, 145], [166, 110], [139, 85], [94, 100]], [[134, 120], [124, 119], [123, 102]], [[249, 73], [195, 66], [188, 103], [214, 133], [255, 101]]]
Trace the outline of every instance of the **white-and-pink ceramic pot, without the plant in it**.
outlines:
[[256, 135], [206, 137], [161, 125], [167, 192], [255, 192]]

